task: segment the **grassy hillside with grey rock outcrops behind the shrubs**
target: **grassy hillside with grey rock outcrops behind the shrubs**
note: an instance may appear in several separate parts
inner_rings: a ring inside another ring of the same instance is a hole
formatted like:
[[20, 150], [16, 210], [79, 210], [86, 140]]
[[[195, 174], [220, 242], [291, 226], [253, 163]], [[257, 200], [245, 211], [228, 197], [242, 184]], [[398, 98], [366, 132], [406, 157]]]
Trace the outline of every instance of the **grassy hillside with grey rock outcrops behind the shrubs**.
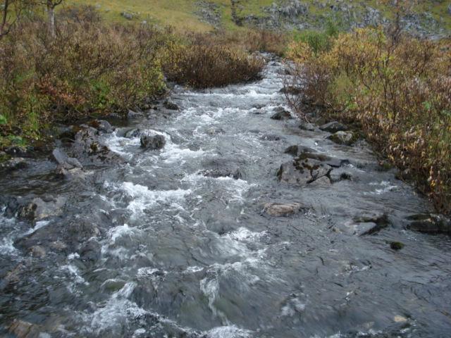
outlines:
[[[69, 0], [64, 6], [79, 4], [93, 2]], [[285, 30], [319, 29], [329, 20], [349, 29], [384, 24], [393, 16], [393, 8], [380, 0], [98, 0], [94, 6], [109, 20], [147, 21], [194, 31], [214, 27], [234, 30], [237, 24]], [[451, 5], [444, 0], [418, 1], [403, 20], [410, 31], [419, 35], [446, 36], [451, 31]]]

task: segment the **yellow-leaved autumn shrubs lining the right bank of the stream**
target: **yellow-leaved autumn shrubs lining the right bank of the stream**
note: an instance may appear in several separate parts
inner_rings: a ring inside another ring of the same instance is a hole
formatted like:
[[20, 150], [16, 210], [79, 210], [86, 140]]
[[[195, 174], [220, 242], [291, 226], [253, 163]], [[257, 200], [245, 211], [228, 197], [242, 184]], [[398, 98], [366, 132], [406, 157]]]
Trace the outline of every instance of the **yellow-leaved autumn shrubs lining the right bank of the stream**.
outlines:
[[[359, 123], [439, 210], [450, 212], [449, 42], [405, 36], [395, 41], [378, 29], [357, 29], [319, 53], [304, 42], [294, 47], [302, 96], [326, 106], [334, 118]], [[292, 101], [298, 110], [299, 101]]]

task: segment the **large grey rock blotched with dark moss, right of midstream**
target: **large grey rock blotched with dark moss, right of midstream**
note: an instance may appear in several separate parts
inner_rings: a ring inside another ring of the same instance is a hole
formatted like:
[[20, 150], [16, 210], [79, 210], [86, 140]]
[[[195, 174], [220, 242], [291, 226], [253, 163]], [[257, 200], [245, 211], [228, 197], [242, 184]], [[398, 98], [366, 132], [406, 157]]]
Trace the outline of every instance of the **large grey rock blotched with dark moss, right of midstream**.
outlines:
[[320, 161], [310, 158], [297, 159], [280, 165], [277, 176], [281, 182], [304, 185], [328, 175], [330, 170], [330, 165]]

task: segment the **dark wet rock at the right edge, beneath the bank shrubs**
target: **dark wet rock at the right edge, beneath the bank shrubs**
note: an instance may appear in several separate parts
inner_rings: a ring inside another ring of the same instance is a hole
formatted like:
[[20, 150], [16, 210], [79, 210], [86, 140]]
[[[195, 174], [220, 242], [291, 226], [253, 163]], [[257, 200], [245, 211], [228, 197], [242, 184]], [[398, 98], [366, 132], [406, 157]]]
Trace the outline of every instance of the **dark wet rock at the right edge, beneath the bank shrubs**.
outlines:
[[420, 213], [407, 218], [410, 230], [426, 234], [451, 234], [451, 220], [443, 215], [433, 213]]

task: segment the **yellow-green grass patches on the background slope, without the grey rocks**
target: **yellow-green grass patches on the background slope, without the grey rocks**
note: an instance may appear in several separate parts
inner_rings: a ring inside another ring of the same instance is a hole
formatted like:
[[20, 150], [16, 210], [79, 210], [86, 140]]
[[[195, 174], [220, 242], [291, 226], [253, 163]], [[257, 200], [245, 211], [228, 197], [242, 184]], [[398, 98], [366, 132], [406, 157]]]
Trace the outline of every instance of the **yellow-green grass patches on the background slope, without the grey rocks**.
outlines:
[[[240, 15], [264, 15], [262, 8], [271, 6], [274, 2], [283, 3], [285, 0], [242, 0], [240, 4]], [[217, 6], [216, 11], [221, 15], [222, 26], [228, 30], [237, 30], [237, 26], [233, 23], [230, 13], [230, 0], [208, 0], [211, 4]], [[315, 15], [329, 15], [332, 13], [330, 6], [320, 8], [317, 4], [333, 4], [332, 0], [302, 0], [304, 4], [309, 6], [309, 12]], [[345, 4], [352, 4], [357, 11], [364, 11], [366, 6], [376, 8], [381, 13], [390, 18], [392, 8], [385, 6], [381, 0], [369, 1], [340, 1]], [[199, 18], [199, 0], [66, 0], [63, 6], [74, 6], [80, 4], [90, 4], [97, 6], [99, 11], [105, 18], [111, 21], [125, 21], [121, 13], [132, 13], [132, 20], [146, 20], [151, 23], [159, 23], [161, 25], [172, 25], [179, 30], [194, 30], [203, 32], [212, 30], [213, 26], [205, 23]], [[316, 4], [316, 5], [315, 5]], [[438, 21], [440, 27], [445, 30], [451, 30], [451, 14], [448, 13], [449, 1], [425, 0], [419, 1], [415, 6], [416, 13], [431, 13], [433, 18]]]

